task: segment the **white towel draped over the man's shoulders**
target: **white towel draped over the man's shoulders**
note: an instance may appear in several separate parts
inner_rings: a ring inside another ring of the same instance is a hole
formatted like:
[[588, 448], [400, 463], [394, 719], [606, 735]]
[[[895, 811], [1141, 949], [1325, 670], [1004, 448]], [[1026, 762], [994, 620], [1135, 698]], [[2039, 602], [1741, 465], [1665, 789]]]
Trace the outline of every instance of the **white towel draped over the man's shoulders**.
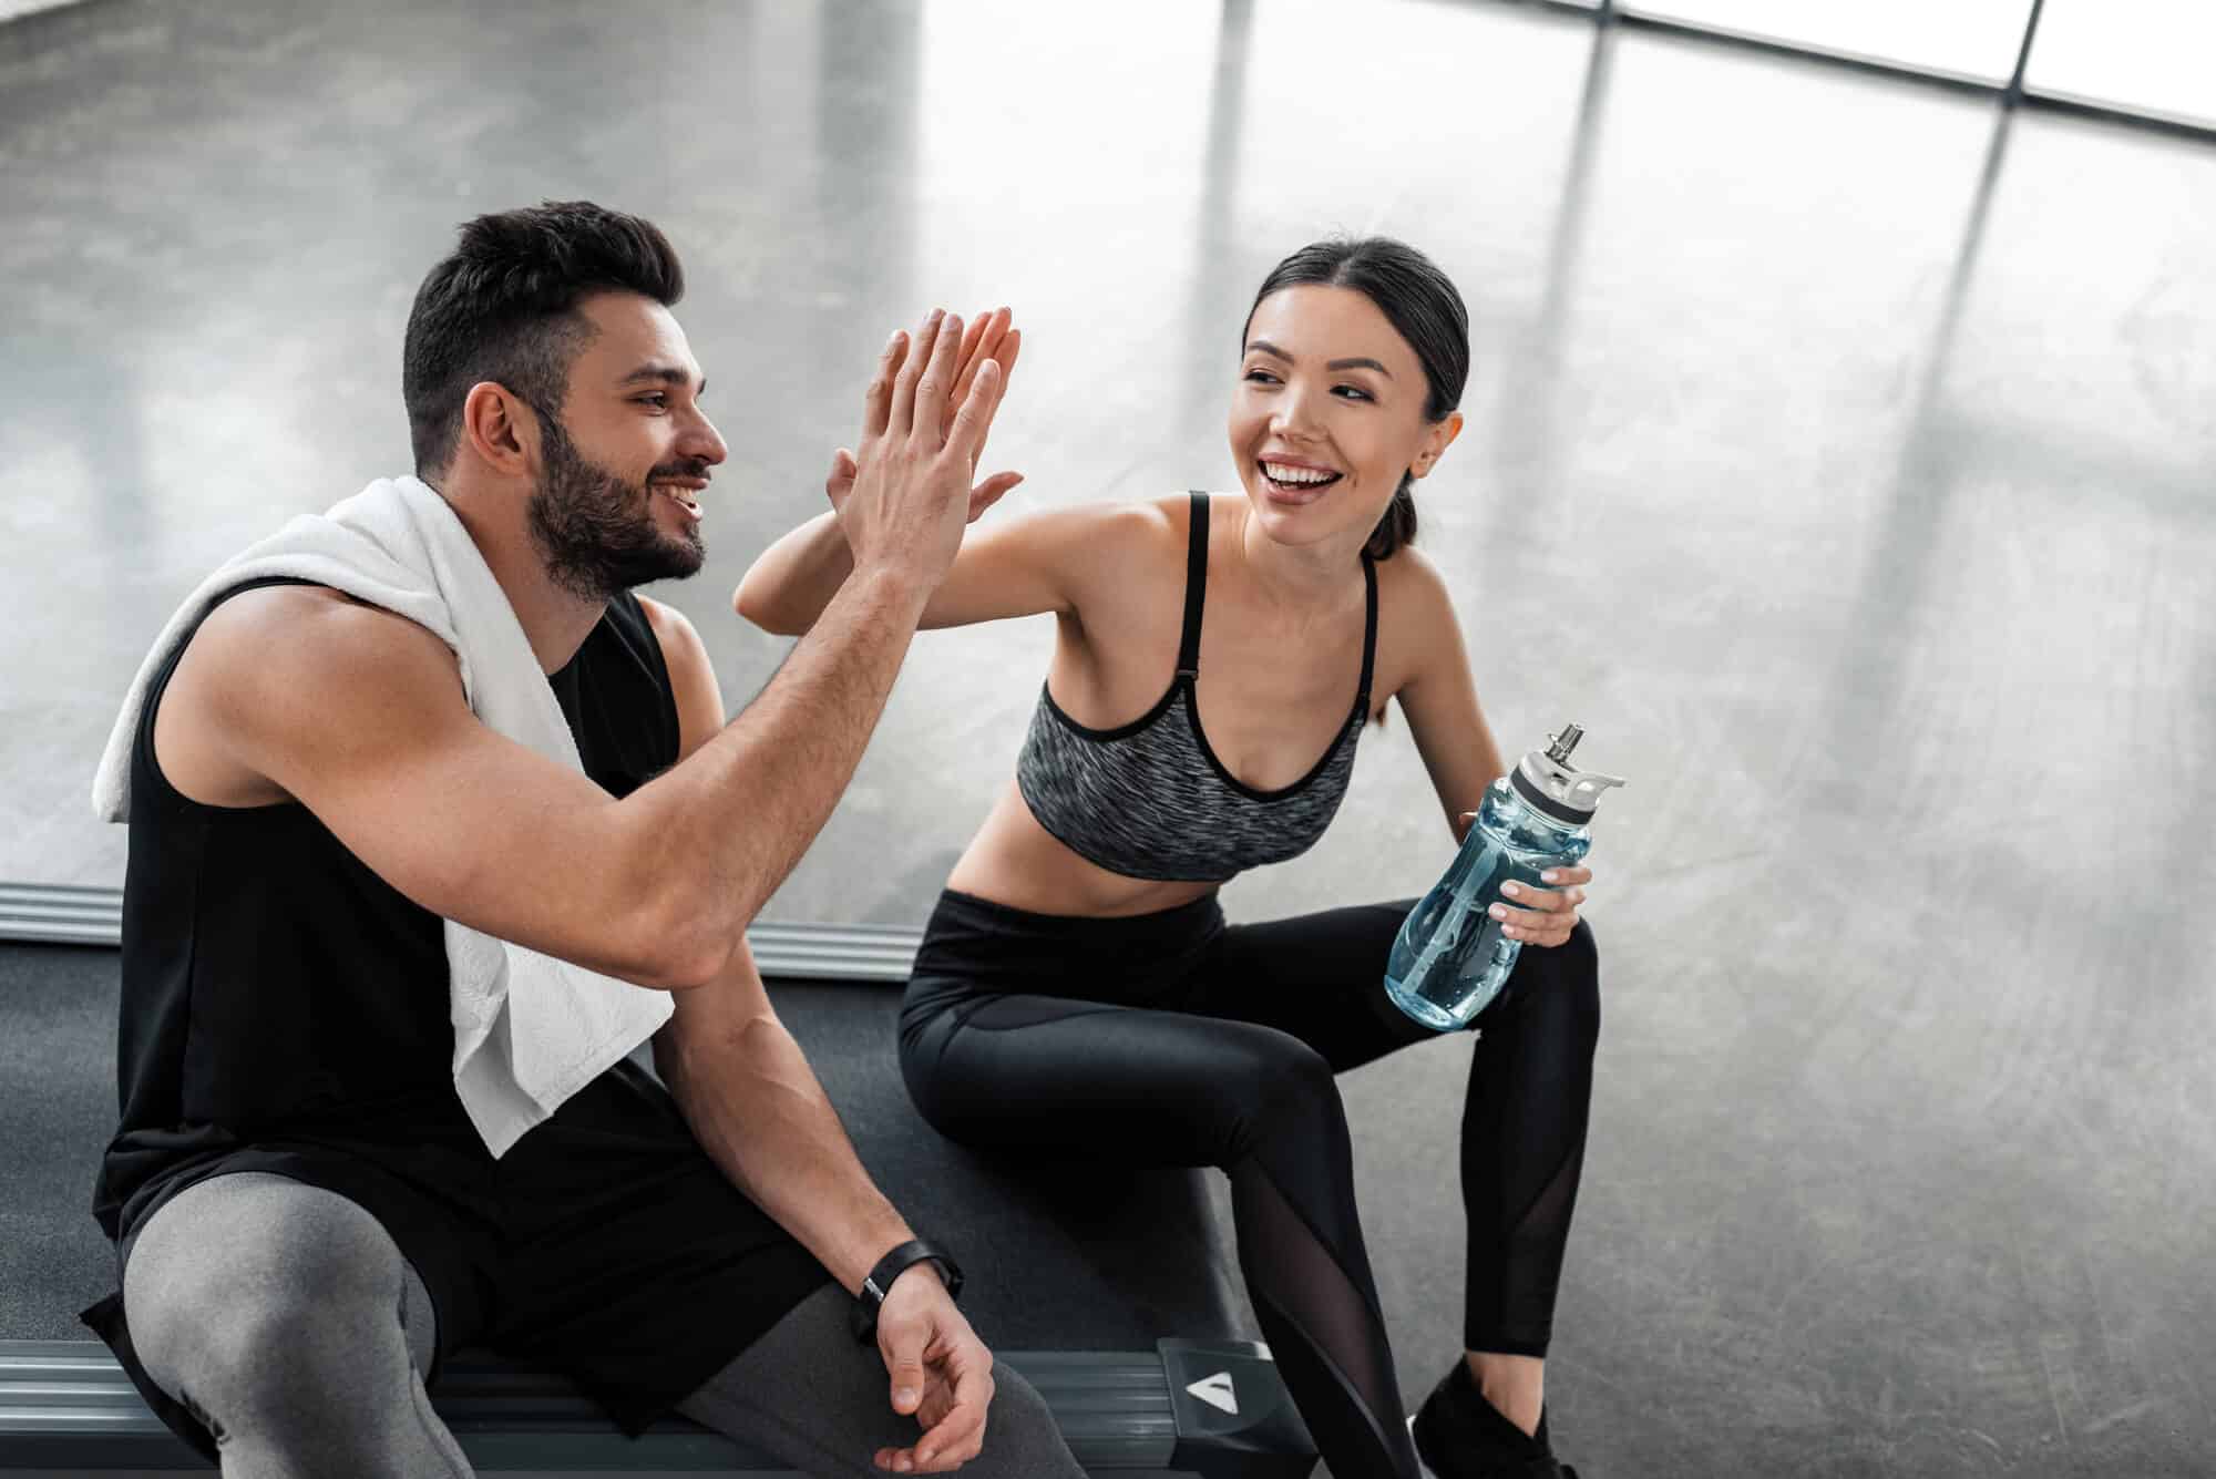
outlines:
[[[417, 478], [381, 478], [321, 516], [250, 545], [177, 607], [131, 682], [93, 777], [93, 810], [131, 817], [131, 746], [146, 686], [177, 642], [230, 589], [266, 576], [312, 580], [434, 633], [461, 662], [470, 709], [490, 728], [581, 770], [576, 740], [507, 593], [445, 498]], [[616, 1058], [669, 1021], [654, 992], [445, 921], [454, 1087], [501, 1156]], [[301, 983], [312, 990], [315, 983]]]

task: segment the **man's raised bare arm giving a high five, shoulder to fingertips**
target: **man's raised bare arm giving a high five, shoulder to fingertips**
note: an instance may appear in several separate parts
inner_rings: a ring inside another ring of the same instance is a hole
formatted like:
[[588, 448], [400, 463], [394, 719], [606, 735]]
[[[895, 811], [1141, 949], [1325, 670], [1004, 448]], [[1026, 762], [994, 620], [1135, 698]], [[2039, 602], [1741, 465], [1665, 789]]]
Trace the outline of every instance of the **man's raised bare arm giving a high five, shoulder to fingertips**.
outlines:
[[853, 775], [960, 542], [997, 372], [942, 438], [937, 328], [871, 385], [855, 576], [736, 722], [623, 801], [476, 722], [437, 638], [328, 591], [226, 602], [179, 664], [186, 702], [432, 912], [643, 985], [716, 981]]

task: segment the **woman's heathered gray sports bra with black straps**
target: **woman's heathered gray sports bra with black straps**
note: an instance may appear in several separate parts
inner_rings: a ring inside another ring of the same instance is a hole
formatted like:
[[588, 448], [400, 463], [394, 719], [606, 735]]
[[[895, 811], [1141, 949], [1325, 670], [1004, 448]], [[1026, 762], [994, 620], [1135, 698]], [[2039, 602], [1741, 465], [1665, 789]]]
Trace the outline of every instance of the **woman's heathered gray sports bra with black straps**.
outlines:
[[1307, 852], [1347, 795], [1354, 744], [1369, 717], [1378, 576], [1367, 554], [1363, 580], [1363, 682], [1345, 728], [1323, 759], [1283, 790], [1241, 784], [1208, 748], [1192, 695], [1208, 598], [1208, 494], [1192, 494], [1186, 635], [1170, 691], [1130, 724], [1086, 728], [1061, 713], [1042, 684], [1030, 735], [1015, 762], [1015, 784], [1030, 815], [1079, 857], [1132, 879], [1223, 883], [1243, 868]]

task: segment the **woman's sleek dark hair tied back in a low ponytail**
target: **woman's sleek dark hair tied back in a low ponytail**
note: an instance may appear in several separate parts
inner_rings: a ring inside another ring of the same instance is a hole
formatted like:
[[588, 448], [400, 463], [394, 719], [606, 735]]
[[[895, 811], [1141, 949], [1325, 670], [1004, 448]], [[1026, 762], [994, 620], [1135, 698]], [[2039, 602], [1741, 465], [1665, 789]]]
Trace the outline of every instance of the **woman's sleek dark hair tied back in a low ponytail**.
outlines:
[[[1305, 286], [1354, 288], [1378, 306], [1423, 363], [1423, 379], [1432, 387], [1423, 405], [1425, 421], [1445, 421], [1463, 403], [1463, 385], [1469, 381], [1469, 310], [1429, 257], [1392, 237], [1312, 241], [1270, 268], [1270, 277], [1261, 279], [1261, 292], [1254, 294], [1254, 308], [1261, 308], [1272, 292]], [[1248, 308], [1248, 328], [1254, 323], [1254, 308]], [[1243, 328], [1239, 350], [1245, 352]], [[1385, 518], [1369, 534], [1363, 554], [1389, 560], [1394, 549], [1414, 540], [1416, 476], [1407, 472], [1401, 474], [1401, 487], [1385, 505]]]

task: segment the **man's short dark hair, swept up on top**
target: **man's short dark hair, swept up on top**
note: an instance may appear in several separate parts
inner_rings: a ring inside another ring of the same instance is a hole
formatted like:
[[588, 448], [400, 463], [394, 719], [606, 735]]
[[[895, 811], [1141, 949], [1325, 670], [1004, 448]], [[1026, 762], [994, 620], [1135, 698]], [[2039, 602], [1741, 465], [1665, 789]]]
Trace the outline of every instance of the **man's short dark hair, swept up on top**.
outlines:
[[570, 363], [592, 343], [576, 303], [607, 290], [665, 308], [685, 297], [685, 268], [652, 221], [550, 199], [463, 224], [454, 255], [417, 288], [401, 350], [417, 476], [454, 458], [461, 401], [479, 381], [499, 381], [541, 416], [558, 416]]

